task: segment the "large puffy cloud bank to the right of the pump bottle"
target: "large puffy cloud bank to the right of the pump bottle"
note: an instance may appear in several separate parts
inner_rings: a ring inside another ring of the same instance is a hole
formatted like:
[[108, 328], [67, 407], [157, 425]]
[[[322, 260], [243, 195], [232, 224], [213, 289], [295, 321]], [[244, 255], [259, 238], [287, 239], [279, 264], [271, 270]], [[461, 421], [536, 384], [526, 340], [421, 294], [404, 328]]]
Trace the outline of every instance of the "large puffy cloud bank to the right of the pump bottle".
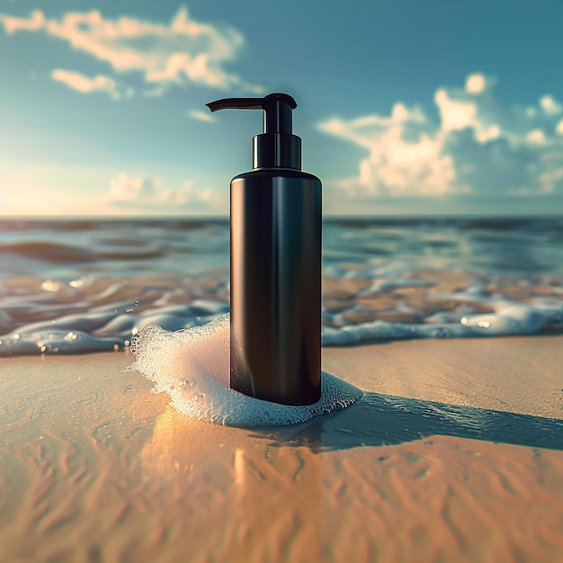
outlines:
[[495, 85], [473, 73], [462, 88], [438, 88], [437, 123], [400, 102], [389, 116], [319, 123], [369, 154], [357, 177], [337, 184], [358, 197], [563, 194], [563, 106], [544, 95], [535, 106], [505, 108]]

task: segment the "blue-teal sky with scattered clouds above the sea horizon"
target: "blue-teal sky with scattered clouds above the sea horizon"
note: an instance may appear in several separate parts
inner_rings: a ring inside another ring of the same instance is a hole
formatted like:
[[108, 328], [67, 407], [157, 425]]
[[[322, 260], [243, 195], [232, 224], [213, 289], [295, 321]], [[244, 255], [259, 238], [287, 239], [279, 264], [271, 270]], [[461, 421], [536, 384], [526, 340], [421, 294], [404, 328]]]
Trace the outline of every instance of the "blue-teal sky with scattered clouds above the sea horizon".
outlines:
[[0, 0], [0, 217], [226, 216], [291, 94], [326, 215], [563, 212], [560, 0]]

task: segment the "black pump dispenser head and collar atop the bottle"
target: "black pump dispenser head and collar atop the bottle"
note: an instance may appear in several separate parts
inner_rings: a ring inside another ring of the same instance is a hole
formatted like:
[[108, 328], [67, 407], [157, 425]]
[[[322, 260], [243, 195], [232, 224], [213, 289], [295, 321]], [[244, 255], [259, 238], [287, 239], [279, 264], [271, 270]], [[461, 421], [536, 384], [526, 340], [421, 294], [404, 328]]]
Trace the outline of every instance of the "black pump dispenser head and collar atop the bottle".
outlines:
[[264, 133], [253, 143], [253, 168], [301, 169], [301, 139], [292, 134], [291, 111], [297, 102], [289, 94], [268, 94], [264, 98], [225, 98], [206, 103], [218, 110], [264, 110]]

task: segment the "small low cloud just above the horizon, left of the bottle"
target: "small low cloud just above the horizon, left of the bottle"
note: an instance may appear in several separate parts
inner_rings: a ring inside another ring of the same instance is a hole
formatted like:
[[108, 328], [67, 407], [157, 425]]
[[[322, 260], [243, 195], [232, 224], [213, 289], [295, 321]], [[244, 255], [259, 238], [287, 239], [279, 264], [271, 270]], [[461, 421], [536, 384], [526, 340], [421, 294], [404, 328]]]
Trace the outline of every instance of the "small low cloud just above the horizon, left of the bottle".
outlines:
[[222, 201], [210, 188], [198, 189], [191, 181], [178, 188], [165, 186], [160, 178], [121, 173], [110, 180], [108, 201], [119, 207], [174, 210], [221, 210]]

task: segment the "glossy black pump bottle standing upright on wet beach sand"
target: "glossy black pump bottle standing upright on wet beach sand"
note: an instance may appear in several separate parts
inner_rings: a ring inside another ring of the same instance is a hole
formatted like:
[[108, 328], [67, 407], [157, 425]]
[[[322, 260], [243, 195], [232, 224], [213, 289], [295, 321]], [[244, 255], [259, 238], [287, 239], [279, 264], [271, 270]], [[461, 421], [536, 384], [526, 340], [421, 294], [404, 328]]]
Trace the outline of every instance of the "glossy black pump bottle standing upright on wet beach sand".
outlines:
[[264, 110], [253, 170], [230, 184], [230, 387], [311, 405], [321, 377], [321, 183], [301, 171], [288, 94], [208, 103]]

